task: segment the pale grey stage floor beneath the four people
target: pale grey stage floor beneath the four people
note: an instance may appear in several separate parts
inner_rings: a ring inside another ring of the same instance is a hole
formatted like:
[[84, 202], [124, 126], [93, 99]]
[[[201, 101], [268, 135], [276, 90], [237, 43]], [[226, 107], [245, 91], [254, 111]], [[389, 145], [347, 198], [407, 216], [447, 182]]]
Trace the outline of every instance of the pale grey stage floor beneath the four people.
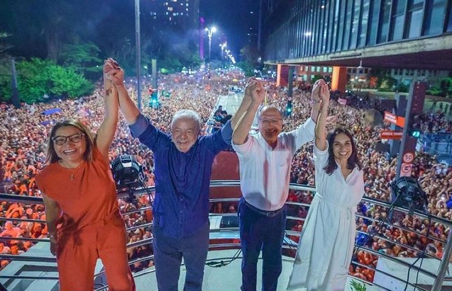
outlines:
[[[209, 261], [226, 262], [230, 261], [238, 249], [209, 251], [207, 257]], [[48, 243], [38, 243], [30, 250], [27, 255], [51, 257]], [[293, 258], [283, 256], [282, 274], [278, 283], [277, 290], [286, 290], [287, 282], [292, 271]], [[101, 261], [97, 262], [96, 272], [102, 269]], [[31, 275], [31, 276], [55, 276], [57, 277], [56, 263], [39, 263], [14, 261], [1, 271], [2, 275]], [[155, 280], [155, 268], [148, 268], [140, 271], [135, 276], [137, 291], [157, 290], [157, 282]], [[179, 290], [183, 290], [185, 279], [185, 268], [182, 266], [179, 280]], [[104, 278], [98, 278], [96, 283], [103, 283]], [[351, 278], [347, 280], [345, 290], [351, 290]], [[57, 291], [57, 280], [18, 280], [18, 279], [1, 279], [1, 283], [5, 285], [8, 291]], [[262, 283], [262, 261], [258, 262], [258, 290], [261, 290]], [[100, 287], [96, 285], [96, 287]], [[210, 267], [204, 269], [204, 283], [202, 290], [204, 291], [240, 291], [241, 287], [241, 255], [226, 266]], [[368, 286], [367, 291], [380, 291], [376, 287]]]

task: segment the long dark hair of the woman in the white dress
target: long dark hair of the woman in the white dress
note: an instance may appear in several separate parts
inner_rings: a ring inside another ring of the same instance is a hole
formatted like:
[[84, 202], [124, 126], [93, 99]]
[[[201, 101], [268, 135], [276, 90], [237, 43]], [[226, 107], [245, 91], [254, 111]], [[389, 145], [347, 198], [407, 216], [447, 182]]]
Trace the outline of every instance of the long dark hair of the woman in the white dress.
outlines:
[[347, 135], [351, 141], [352, 153], [347, 161], [347, 169], [353, 170], [353, 169], [355, 169], [355, 166], [358, 166], [358, 169], [363, 169], [363, 165], [361, 164], [361, 162], [358, 159], [358, 151], [356, 149], [356, 144], [355, 144], [355, 140], [353, 139], [353, 136], [345, 128], [336, 127], [336, 129], [331, 131], [328, 134], [328, 136], [326, 137], [326, 141], [328, 142], [328, 164], [326, 164], [326, 166], [324, 167], [324, 170], [329, 175], [331, 175], [334, 172], [334, 170], [336, 170], [338, 168], [338, 165], [336, 164], [336, 160], [334, 159], [333, 143], [334, 143], [334, 139], [336, 138], [336, 135], [338, 135], [340, 133]]

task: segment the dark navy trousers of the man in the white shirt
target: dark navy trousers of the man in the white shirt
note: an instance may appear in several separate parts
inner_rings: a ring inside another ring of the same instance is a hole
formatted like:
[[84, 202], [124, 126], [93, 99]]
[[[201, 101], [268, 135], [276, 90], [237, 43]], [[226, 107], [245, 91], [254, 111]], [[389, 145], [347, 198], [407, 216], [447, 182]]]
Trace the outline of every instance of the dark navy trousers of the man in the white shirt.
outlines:
[[238, 203], [238, 223], [243, 252], [242, 291], [256, 291], [258, 258], [262, 251], [262, 290], [276, 291], [282, 271], [282, 241], [287, 210], [283, 207], [274, 217], [252, 210], [242, 198]]

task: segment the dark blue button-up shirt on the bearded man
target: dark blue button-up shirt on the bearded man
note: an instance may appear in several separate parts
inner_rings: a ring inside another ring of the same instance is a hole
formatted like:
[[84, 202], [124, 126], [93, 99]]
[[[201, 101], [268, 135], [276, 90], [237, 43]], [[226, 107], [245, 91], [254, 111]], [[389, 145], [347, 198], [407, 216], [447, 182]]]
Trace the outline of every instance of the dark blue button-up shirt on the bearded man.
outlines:
[[198, 137], [186, 153], [143, 115], [129, 127], [133, 137], [154, 153], [154, 223], [165, 236], [182, 238], [196, 232], [209, 219], [212, 162], [231, 144], [231, 122], [213, 135]]

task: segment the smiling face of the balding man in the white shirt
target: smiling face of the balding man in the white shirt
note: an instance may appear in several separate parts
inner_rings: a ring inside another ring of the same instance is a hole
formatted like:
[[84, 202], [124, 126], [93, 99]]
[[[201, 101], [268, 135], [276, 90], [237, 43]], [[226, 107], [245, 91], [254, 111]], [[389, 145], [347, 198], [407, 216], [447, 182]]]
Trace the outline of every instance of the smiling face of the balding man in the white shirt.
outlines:
[[259, 130], [266, 142], [272, 144], [282, 132], [282, 115], [275, 107], [265, 107], [260, 112]]

